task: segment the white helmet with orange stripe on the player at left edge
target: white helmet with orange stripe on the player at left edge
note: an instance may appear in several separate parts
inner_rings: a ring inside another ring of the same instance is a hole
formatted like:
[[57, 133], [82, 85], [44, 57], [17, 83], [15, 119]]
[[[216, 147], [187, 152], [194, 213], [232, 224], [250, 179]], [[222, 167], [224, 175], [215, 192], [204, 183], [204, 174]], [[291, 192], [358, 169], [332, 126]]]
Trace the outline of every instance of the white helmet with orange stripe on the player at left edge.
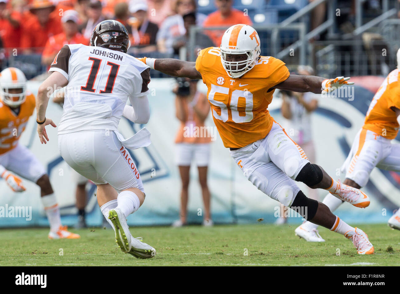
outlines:
[[[22, 89], [21, 93], [9, 93], [10, 89]], [[18, 107], [26, 99], [26, 77], [18, 68], [6, 68], [0, 72], [0, 97], [4, 104]]]

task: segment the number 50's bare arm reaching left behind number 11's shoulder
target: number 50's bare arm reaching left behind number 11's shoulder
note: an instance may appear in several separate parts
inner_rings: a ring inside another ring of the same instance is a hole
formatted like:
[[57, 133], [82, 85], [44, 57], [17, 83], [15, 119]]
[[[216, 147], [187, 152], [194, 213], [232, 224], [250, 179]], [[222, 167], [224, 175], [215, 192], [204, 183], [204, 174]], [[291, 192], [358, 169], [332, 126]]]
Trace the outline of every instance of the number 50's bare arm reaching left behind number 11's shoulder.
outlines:
[[196, 62], [188, 62], [174, 58], [157, 58], [154, 69], [174, 77], [188, 77], [201, 79], [201, 74], [196, 70]]

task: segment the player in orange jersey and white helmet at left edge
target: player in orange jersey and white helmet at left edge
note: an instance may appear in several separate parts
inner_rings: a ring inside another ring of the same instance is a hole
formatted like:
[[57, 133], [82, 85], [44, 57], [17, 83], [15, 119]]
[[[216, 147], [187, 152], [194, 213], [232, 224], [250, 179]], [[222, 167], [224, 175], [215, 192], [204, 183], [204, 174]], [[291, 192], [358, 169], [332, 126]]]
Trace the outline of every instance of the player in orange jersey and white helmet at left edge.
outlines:
[[80, 238], [61, 225], [60, 209], [46, 170], [32, 152], [18, 142], [36, 104], [35, 96], [26, 90], [26, 77], [22, 71], [6, 68], [0, 73], [0, 98], [0, 175], [16, 192], [25, 191], [25, 188], [21, 179], [9, 171], [40, 187], [50, 222], [48, 238]]

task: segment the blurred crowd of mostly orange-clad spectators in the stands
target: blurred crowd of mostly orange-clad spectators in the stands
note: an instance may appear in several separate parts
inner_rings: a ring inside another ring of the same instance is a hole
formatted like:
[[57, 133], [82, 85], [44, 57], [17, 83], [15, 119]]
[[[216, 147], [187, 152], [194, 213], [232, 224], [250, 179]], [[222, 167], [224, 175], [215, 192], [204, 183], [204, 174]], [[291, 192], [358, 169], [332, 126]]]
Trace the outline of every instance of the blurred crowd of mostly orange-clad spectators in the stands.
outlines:
[[[46, 68], [65, 44], [88, 45], [96, 24], [106, 19], [126, 26], [128, 53], [173, 56], [186, 46], [190, 26], [252, 24], [232, 4], [233, 0], [215, 0], [217, 11], [206, 15], [197, 11], [196, 0], [0, 0], [0, 59], [40, 56]], [[194, 50], [219, 46], [222, 34], [223, 30], [198, 33]]]

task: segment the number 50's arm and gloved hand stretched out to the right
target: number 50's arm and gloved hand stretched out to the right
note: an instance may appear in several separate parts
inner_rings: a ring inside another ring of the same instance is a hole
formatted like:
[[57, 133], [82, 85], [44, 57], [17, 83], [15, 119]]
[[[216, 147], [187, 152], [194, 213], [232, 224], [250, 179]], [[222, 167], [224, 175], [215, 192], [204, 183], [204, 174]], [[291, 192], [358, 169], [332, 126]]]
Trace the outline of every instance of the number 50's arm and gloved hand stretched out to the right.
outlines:
[[354, 85], [353, 82], [348, 82], [349, 79], [350, 77], [325, 79], [314, 75], [289, 75], [285, 81], [275, 85], [272, 89], [320, 94], [322, 92], [331, 92], [342, 85]]

